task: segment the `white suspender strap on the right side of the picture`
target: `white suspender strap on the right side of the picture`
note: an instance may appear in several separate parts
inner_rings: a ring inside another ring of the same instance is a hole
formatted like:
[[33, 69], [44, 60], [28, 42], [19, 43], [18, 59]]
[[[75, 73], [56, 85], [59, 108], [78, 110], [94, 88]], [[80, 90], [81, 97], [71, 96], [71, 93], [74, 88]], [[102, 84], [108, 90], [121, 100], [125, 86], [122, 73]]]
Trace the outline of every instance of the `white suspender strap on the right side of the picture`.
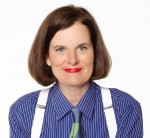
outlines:
[[115, 138], [117, 132], [117, 124], [115, 113], [112, 105], [111, 93], [108, 88], [101, 87], [104, 112], [110, 138]]

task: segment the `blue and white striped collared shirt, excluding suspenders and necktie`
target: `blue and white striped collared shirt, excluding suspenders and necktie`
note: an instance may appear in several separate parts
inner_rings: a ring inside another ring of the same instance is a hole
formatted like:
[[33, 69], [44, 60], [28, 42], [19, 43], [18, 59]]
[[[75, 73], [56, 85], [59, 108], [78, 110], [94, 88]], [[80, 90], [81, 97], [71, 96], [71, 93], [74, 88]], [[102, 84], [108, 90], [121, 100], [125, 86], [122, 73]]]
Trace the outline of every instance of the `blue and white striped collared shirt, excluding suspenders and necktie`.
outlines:
[[[129, 94], [110, 88], [117, 122], [116, 138], [142, 138], [143, 120], [139, 102]], [[35, 107], [40, 91], [19, 98], [10, 108], [10, 138], [30, 138]], [[48, 96], [40, 138], [69, 138], [73, 106], [55, 84]], [[109, 138], [100, 86], [91, 82], [77, 108], [87, 138]]]

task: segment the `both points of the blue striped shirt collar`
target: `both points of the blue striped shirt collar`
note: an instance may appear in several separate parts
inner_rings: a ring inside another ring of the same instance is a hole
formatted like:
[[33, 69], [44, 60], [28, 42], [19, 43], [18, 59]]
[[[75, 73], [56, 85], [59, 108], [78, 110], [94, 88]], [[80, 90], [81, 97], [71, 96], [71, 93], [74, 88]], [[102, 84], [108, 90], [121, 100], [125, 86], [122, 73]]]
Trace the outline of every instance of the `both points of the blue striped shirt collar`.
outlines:
[[[52, 98], [52, 104], [56, 112], [57, 119], [64, 117], [73, 106], [68, 102], [65, 96], [62, 94], [58, 84], [54, 87], [54, 95]], [[87, 117], [92, 119], [93, 111], [95, 107], [96, 95], [94, 82], [90, 82], [89, 87], [80, 102], [77, 104], [77, 108]]]

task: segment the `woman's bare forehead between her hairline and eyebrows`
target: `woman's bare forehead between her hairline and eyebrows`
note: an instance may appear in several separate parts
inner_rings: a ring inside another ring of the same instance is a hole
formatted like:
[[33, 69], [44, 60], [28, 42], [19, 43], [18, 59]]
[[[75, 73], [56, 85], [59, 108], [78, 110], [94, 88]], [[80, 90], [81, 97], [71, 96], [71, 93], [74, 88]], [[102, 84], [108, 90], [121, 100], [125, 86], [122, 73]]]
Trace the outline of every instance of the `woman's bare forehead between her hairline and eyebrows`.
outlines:
[[72, 26], [59, 30], [52, 38], [50, 45], [78, 45], [90, 41], [88, 28], [80, 22], [75, 22]]

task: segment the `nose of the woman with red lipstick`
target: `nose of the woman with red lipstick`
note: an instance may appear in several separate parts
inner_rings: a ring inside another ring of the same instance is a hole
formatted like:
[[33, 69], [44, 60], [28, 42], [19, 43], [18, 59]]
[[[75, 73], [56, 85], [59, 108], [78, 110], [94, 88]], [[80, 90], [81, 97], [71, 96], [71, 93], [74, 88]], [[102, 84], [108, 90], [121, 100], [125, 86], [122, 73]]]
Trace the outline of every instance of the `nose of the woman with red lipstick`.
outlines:
[[68, 64], [70, 64], [70, 65], [78, 64], [79, 59], [78, 59], [78, 54], [76, 53], [76, 51], [68, 52], [67, 61], [68, 61]]

